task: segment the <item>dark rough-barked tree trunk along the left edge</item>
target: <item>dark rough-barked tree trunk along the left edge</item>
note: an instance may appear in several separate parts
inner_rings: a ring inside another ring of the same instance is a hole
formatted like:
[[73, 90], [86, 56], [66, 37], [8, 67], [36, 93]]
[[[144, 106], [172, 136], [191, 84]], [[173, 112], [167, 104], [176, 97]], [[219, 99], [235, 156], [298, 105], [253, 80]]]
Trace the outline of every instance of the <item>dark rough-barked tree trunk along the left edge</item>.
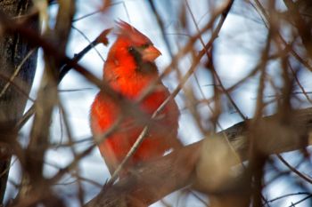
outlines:
[[[10, 18], [23, 16], [21, 20], [24, 20], [29, 28], [37, 30], [37, 17], [25, 16], [31, 8], [31, 3], [31, 0], [2, 0], [0, 10]], [[13, 131], [12, 128], [21, 118], [28, 100], [37, 67], [37, 50], [34, 50], [20, 34], [1, 34], [0, 57], [0, 125], [1, 129], [6, 129], [1, 130], [0, 136], [1, 139], [16, 139], [17, 131]], [[27, 60], [25, 57], [28, 57]], [[7, 89], [4, 91], [4, 88]], [[7, 131], [11, 133], [8, 134]], [[5, 155], [8, 149], [1, 141], [0, 149], [0, 203], [3, 203], [11, 158]]]

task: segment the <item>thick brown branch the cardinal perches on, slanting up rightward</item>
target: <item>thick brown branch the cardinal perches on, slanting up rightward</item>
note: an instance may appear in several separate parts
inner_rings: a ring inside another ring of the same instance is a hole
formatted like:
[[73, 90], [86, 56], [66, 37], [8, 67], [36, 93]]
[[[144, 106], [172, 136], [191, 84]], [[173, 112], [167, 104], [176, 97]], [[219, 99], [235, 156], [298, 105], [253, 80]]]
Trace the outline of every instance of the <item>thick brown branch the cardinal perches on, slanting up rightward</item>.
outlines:
[[[291, 115], [291, 123], [287, 125], [280, 123], [277, 115], [270, 115], [259, 120], [258, 127], [261, 131], [259, 138], [261, 139], [256, 141], [259, 142], [259, 150], [263, 154], [274, 155], [297, 150], [304, 147], [302, 141], [305, 141], [307, 145], [312, 143], [312, 138], [308, 138], [308, 131], [312, 130], [312, 107], [294, 110]], [[249, 140], [247, 139], [250, 131], [249, 125], [250, 120], [247, 120], [219, 132], [226, 133], [232, 147], [245, 161], [249, 160]], [[265, 137], [267, 139], [263, 139]], [[126, 206], [126, 204], [127, 206], [144, 206], [160, 200], [177, 189], [190, 185], [206, 193], [216, 194], [228, 190], [205, 187], [202, 185], [202, 180], [197, 177], [199, 171], [197, 165], [203, 158], [200, 154], [203, 143], [201, 140], [186, 146], [158, 161], [140, 167], [134, 174], [119, 180], [113, 186], [103, 187], [103, 190], [89, 203], [86, 203], [85, 207]], [[209, 151], [207, 153], [213, 155], [216, 152]], [[209, 160], [204, 160], [204, 163], [209, 162]], [[222, 163], [221, 160], [218, 162]], [[234, 189], [232, 190], [234, 191]]]

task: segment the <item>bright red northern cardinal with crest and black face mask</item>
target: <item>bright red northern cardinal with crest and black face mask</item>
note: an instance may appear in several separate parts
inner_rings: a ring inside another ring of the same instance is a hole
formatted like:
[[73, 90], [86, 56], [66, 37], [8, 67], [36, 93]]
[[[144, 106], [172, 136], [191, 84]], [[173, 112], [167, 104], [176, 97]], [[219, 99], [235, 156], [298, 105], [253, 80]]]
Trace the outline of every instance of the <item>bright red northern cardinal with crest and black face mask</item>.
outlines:
[[[160, 52], [147, 36], [131, 25], [121, 20], [117, 24], [118, 36], [104, 64], [103, 79], [123, 98], [135, 103], [142, 92], [159, 78], [154, 60], [160, 56]], [[168, 89], [159, 81], [154, 90], [138, 103], [138, 108], [151, 117], [168, 96]], [[118, 129], [99, 144], [111, 174], [127, 155], [146, 124], [140, 121], [140, 117], [122, 111], [124, 109], [120, 103], [104, 90], [96, 95], [91, 107], [91, 130], [94, 137], [101, 136], [119, 118], [121, 120]], [[150, 125], [147, 137], [129, 159], [127, 169], [160, 157], [168, 149], [180, 145], [177, 140], [178, 116], [177, 104], [175, 100], [170, 100]]]

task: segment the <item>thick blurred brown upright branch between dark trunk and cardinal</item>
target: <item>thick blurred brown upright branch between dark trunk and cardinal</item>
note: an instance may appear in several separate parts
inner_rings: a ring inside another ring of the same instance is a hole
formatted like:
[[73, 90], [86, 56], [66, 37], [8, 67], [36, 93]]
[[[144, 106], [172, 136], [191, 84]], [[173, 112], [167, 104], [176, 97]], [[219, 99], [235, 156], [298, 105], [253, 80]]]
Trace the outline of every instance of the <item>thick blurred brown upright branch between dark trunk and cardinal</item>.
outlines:
[[[59, 1], [60, 7], [57, 13], [57, 21], [53, 30], [47, 29], [43, 36], [52, 44], [58, 45], [60, 53], [65, 53], [65, 48], [70, 35], [70, 24], [75, 12], [74, 1]], [[45, 189], [44, 157], [49, 144], [50, 124], [53, 108], [58, 101], [57, 77], [60, 59], [53, 57], [53, 53], [44, 54], [45, 69], [37, 92], [36, 113], [34, 123], [30, 130], [29, 145], [25, 150], [25, 162], [21, 162], [23, 168], [21, 186], [18, 199], [23, 203], [26, 197], [37, 194], [40, 189]], [[47, 190], [48, 191], [48, 190]]]

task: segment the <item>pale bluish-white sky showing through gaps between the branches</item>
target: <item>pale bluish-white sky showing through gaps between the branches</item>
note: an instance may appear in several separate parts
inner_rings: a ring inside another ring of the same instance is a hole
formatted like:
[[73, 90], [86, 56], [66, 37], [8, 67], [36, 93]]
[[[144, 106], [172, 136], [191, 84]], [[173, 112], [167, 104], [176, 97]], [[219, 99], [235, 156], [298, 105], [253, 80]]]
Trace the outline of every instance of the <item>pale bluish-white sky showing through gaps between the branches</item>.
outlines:
[[[162, 20], [165, 23], [167, 36], [170, 40], [173, 52], [175, 53], [178, 50], [177, 45], [180, 44], [179, 46], [183, 46], [188, 38], [187, 36], [179, 36], [175, 30], [179, 24], [179, 5], [183, 1], [170, 1], [171, 4], [167, 4], [167, 0], [159, 0], [154, 2], [157, 6], [157, 9], [160, 11], [160, 14], [162, 15]], [[210, 15], [207, 1], [189, 0], [189, 4], [191, 5], [195, 19], [198, 20], [199, 26], [202, 27], [207, 22], [207, 20], [209, 20]], [[100, 6], [101, 0], [78, 1], [78, 12], [76, 19], [98, 10]], [[281, 4], [281, 10], [283, 9], [283, 4]], [[57, 7], [52, 6], [50, 10], [51, 15], [54, 15], [56, 10]], [[97, 13], [83, 20], [78, 20], [74, 23], [74, 27], [81, 30], [83, 34], [92, 41], [103, 31], [103, 29], [113, 27], [114, 20], [120, 19], [129, 22], [146, 36], [149, 36], [156, 47], [160, 49], [160, 52], [162, 52], [162, 56], [156, 60], [156, 63], [161, 72], [162, 69], [165, 68], [170, 62], [170, 57], [167, 47], [161, 38], [160, 28], [157, 27], [156, 20], [151, 14], [151, 9], [144, 0], [123, 1], [123, 4], [120, 1], [120, 4], [111, 6], [110, 12]], [[192, 21], [190, 20], [190, 22]], [[185, 33], [185, 31], [181, 30], [180, 33]], [[195, 27], [191, 28], [190, 33], [196, 33]], [[261, 19], [257, 13], [251, 9], [250, 5], [243, 3], [243, 1], [236, 1], [233, 11], [228, 15], [226, 22], [221, 29], [219, 37], [215, 42], [216, 53], [214, 58], [216, 68], [218, 70], [218, 75], [221, 77], [223, 84], [225, 84], [226, 87], [231, 86], [242, 76], [248, 74], [250, 69], [253, 68], [255, 64], [257, 64], [257, 60], [259, 58], [258, 54], [262, 49], [263, 43], [266, 41], [266, 35], [265, 26], [261, 22]], [[207, 42], [209, 40], [209, 35], [206, 37], [207, 38], [205, 41]], [[111, 43], [113, 43], [114, 36], [111, 35], [109, 38]], [[68, 55], [73, 57], [75, 53], [80, 52], [87, 44], [88, 42], [86, 41], [86, 38], [79, 34], [77, 30], [73, 29], [70, 36]], [[198, 44], [198, 46], [200, 50], [201, 45]], [[96, 47], [96, 49], [103, 56], [103, 59], [106, 59], [108, 48], [104, 47], [103, 45], [99, 45]], [[40, 57], [37, 66], [37, 75], [33, 85], [33, 90], [30, 94], [30, 97], [32, 98], [36, 98], [37, 87], [44, 67], [42, 53], [39, 52], [39, 54]], [[88, 52], [84, 59], [79, 63], [89, 69], [92, 73], [94, 73], [94, 75], [102, 78], [103, 60], [94, 50]], [[186, 58], [183, 60], [183, 63], [180, 64], [179, 69], [182, 72], [185, 72], [189, 65], [190, 60]], [[270, 74], [274, 75], [279, 73], [280, 71], [277, 68], [278, 63], [272, 63], [269, 69]], [[209, 73], [206, 72], [204, 68], [199, 67], [195, 74], [199, 78], [201, 89], [205, 93], [205, 98], [211, 97], [212, 87], [210, 87], [209, 84], [212, 84], [212, 81]], [[303, 77], [301, 78], [301, 83], [307, 89], [307, 91], [308, 89], [311, 89], [311, 73], [302, 73], [300, 76]], [[172, 91], [177, 85], [177, 81], [174, 75], [168, 76], [164, 80], [164, 83], [168, 86], [170, 91]], [[196, 84], [194, 84], [193, 77], [186, 85], [190, 87], [192, 86], [193, 89], [197, 91], [196, 94], [198, 97], [201, 97], [198, 88], [196, 88]], [[257, 85], [258, 78], [256, 76], [255, 78], [250, 79], [247, 84], [243, 84], [240, 90], [235, 91], [233, 94], [234, 100], [246, 117], [252, 117], [254, 113]], [[91, 137], [89, 128], [89, 108], [92, 101], [94, 100], [94, 95], [98, 92], [98, 89], [93, 84], [86, 82], [83, 77], [79, 76], [74, 71], [71, 71], [63, 79], [59, 89], [84, 89], [83, 91], [61, 92], [60, 94], [63, 106], [66, 108], [68, 118], [70, 120], [73, 137], [75, 139], [86, 139]], [[267, 88], [266, 94], [270, 95], [270, 92], [272, 91]], [[190, 144], [201, 139], [202, 135], [193, 122], [192, 115], [190, 115], [190, 113], [184, 109], [184, 98], [185, 96], [183, 93], [177, 96], [177, 103], [181, 109], [179, 137], [185, 142], [185, 144]], [[223, 104], [226, 108], [226, 112], [220, 117], [219, 120], [223, 129], [226, 129], [234, 123], [242, 121], [239, 115], [234, 113], [234, 109], [232, 109], [229, 104], [227, 104], [227, 100], [224, 100]], [[308, 107], [308, 104], [300, 103], [298, 104], [298, 107]], [[207, 107], [203, 106], [201, 110], [203, 115], [209, 114], [207, 112]], [[267, 107], [267, 114], [272, 113], [274, 113], [274, 105]], [[64, 132], [64, 129], [61, 129], [60, 114], [57, 108], [55, 108], [52, 125], [52, 142], [60, 143], [62, 141], [66, 141], [66, 133]], [[27, 134], [29, 133], [29, 126], [30, 123], [26, 124], [24, 127], [22, 131], [21, 142], [26, 141], [24, 138], [27, 137]], [[80, 151], [86, 147], [86, 143], [78, 144], [76, 149]], [[291, 159], [288, 159], [288, 161], [293, 164], [300, 162], [301, 155], [299, 153], [288, 153], [284, 156], [286, 158], [291, 157]], [[72, 159], [73, 156], [71, 155], [69, 148], [56, 147], [50, 149], [46, 155], [45, 175], [47, 177], [53, 176], [53, 174], [57, 171], [55, 166], [64, 167], [70, 163]], [[13, 158], [12, 162], [15, 160], [16, 158]], [[282, 164], [279, 167], [283, 170], [286, 170]], [[83, 159], [83, 161], [79, 164], [79, 169], [83, 177], [92, 179], [99, 184], [98, 186], [94, 186], [84, 182], [88, 195], [86, 199], [88, 200], [100, 191], [100, 186], [103, 185], [106, 179], [110, 178], [110, 174], [97, 149], [94, 150], [91, 155]], [[309, 174], [312, 172], [311, 166], [307, 164], [300, 165], [300, 170], [304, 170]], [[268, 174], [267, 179], [272, 178], [273, 176], [274, 174]], [[10, 179], [15, 181], [17, 180], [16, 182], [19, 182], [18, 180], [21, 179], [18, 162], [13, 164], [12, 170], [10, 172]], [[75, 206], [74, 202], [77, 202], [77, 200], [73, 198], [73, 195], [76, 195], [77, 187], [73, 181], [74, 179], [70, 177], [65, 178], [63, 182], [68, 184], [59, 185], [55, 188], [57, 189], [58, 193], [68, 196], [70, 198], [68, 202], [72, 203], [72, 206]], [[291, 188], [291, 185], [292, 184], [290, 182], [285, 182], [284, 179], [277, 179], [275, 180], [275, 185], [267, 188], [265, 195], [267, 195], [268, 198], [274, 198], [286, 193], [300, 191], [300, 189], [297, 190]], [[8, 194], [6, 196], [12, 197], [14, 194], [16, 194], [16, 192], [14, 191], [14, 187], [10, 184], [8, 186]], [[174, 206], [203, 206], [202, 203], [194, 198], [178, 200], [177, 196], [179, 196], [179, 194], [169, 195], [165, 200]], [[295, 202], [297, 198], [299, 200], [300, 196], [285, 198], [280, 202], [273, 203], [271, 206], [289, 206], [291, 205], [291, 202]], [[156, 203], [153, 206], [163, 205], [161, 203]], [[297, 207], [299, 206], [303, 207], [309, 205], [308, 203], [301, 203], [300, 205], [297, 205]]]

